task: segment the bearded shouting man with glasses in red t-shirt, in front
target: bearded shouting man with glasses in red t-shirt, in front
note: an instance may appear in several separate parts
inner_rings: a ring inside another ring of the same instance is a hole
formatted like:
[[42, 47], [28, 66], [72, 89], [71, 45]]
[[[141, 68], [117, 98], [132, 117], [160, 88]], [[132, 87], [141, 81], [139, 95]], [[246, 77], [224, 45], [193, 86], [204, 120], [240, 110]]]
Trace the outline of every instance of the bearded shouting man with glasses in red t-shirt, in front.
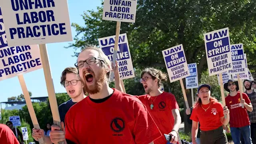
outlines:
[[52, 126], [52, 142], [153, 144], [162, 136], [138, 97], [108, 86], [112, 66], [100, 48], [86, 47], [75, 66], [89, 96], [68, 110], [63, 131]]

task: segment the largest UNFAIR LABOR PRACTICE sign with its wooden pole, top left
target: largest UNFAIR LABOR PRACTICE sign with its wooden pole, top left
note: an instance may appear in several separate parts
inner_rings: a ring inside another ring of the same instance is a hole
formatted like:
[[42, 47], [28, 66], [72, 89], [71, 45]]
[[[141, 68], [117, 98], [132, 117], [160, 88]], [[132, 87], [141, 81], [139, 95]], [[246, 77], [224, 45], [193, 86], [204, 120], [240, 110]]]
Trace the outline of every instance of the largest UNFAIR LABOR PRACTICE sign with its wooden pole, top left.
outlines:
[[39, 44], [52, 117], [60, 126], [46, 44], [72, 41], [67, 0], [0, 0], [0, 6], [7, 18], [4, 26], [9, 46]]

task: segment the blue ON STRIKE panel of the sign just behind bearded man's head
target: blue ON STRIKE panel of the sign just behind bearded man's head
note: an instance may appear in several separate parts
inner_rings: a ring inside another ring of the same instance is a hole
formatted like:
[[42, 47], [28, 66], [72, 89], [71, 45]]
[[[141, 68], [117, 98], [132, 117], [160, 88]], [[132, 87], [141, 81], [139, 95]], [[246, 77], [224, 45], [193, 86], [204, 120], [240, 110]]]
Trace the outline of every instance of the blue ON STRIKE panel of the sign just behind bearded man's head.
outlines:
[[[110, 61], [112, 61], [113, 53], [114, 53], [114, 45], [104, 47], [104, 48], [102, 48], [102, 50], [106, 54], [106, 56], [108, 56], [108, 59]], [[117, 60], [126, 60], [128, 58], [130, 58], [130, 55], [129, 55], [129, 52], [128, 52], [127, 43], [118, 44]]]

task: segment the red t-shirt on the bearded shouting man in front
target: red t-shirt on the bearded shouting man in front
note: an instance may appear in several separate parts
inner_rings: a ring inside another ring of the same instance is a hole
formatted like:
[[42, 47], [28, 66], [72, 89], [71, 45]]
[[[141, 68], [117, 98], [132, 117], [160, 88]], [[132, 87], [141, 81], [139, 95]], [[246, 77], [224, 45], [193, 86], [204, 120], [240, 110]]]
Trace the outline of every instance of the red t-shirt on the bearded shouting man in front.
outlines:
[[142, 102], [116, 89], [104, 102], [88, 96], [72, 106], [65, 125], [66, 139], [76, 144], [148, 144], [162, 136]]

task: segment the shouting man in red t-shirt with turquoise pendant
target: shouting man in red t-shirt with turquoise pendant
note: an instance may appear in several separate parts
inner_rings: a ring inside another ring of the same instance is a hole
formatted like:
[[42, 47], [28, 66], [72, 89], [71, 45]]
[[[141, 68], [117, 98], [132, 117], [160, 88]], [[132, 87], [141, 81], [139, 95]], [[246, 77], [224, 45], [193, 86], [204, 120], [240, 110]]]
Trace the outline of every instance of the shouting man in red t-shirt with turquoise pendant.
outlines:
[[155, 68], [144, 69], [141, 73], [141, 83], [147, 95], [139, 96], [139, 99], [146, 105], [162, 133], [162, 137], [155, 140], [154, 144], [166, 144], [164, 134], [170, 135], [168, 144], [176, 144], [181, 124], [179, 106], [173, 94], [162, 92], [159, 89], [163, 80], [167, 80], [166, 74], [163, 74], [160, 70]]

